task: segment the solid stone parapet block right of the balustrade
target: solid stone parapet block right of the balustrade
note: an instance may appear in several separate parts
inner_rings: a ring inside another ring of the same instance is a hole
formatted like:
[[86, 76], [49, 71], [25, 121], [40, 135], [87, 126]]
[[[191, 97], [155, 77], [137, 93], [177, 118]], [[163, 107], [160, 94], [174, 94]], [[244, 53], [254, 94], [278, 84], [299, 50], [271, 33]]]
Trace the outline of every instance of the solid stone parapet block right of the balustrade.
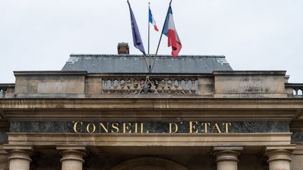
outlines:
[[216, 71], [215, 95], [223, 98], [280, 98], [285, 92], [285, 71]]

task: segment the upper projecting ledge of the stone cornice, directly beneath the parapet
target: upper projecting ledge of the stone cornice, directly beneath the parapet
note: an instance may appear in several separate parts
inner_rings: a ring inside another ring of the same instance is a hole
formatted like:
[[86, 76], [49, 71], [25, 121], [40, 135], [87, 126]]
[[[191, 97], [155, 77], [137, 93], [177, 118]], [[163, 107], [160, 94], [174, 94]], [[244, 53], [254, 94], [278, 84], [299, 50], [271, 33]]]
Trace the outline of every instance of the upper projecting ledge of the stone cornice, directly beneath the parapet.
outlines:
[[0, 110], [11, 109], [302, 109], [303, 98], [107, 98], [107, 99], [0, 99]]

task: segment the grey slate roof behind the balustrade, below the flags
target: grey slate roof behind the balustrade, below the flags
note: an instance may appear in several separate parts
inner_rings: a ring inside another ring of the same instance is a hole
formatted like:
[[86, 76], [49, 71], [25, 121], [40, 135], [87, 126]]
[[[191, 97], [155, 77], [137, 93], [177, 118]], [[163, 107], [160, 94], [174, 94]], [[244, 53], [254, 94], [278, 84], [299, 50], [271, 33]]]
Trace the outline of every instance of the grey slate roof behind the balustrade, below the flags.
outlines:
[[[147, 62], [149, 59], [147, 58]], [[88, 71], [88, 73], [148, 73], [142, 55], [76, 55], [69, 56], [62, 71]], [[232, 71], [225, 56], [159, 55], [152, 73], [213, 73]]]

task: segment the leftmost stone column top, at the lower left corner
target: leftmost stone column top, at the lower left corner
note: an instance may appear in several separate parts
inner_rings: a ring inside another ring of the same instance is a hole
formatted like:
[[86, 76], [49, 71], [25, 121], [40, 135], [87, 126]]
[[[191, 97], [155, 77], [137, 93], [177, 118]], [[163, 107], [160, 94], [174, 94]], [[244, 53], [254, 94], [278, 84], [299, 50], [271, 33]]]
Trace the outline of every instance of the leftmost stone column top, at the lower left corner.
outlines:
[[29, 170], [32, 146], [4, 146], [4, 149], [8, 152], [10, 170]]

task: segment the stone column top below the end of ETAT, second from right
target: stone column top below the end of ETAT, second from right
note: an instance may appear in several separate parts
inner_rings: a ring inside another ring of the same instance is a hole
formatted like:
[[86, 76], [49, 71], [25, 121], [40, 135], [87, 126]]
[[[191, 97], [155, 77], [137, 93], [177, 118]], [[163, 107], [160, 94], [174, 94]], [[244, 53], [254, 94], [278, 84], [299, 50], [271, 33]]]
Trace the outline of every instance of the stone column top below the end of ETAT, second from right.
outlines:
[[243, 147], [214, 147], [217, 170], [238, 170], [238, 156]]

